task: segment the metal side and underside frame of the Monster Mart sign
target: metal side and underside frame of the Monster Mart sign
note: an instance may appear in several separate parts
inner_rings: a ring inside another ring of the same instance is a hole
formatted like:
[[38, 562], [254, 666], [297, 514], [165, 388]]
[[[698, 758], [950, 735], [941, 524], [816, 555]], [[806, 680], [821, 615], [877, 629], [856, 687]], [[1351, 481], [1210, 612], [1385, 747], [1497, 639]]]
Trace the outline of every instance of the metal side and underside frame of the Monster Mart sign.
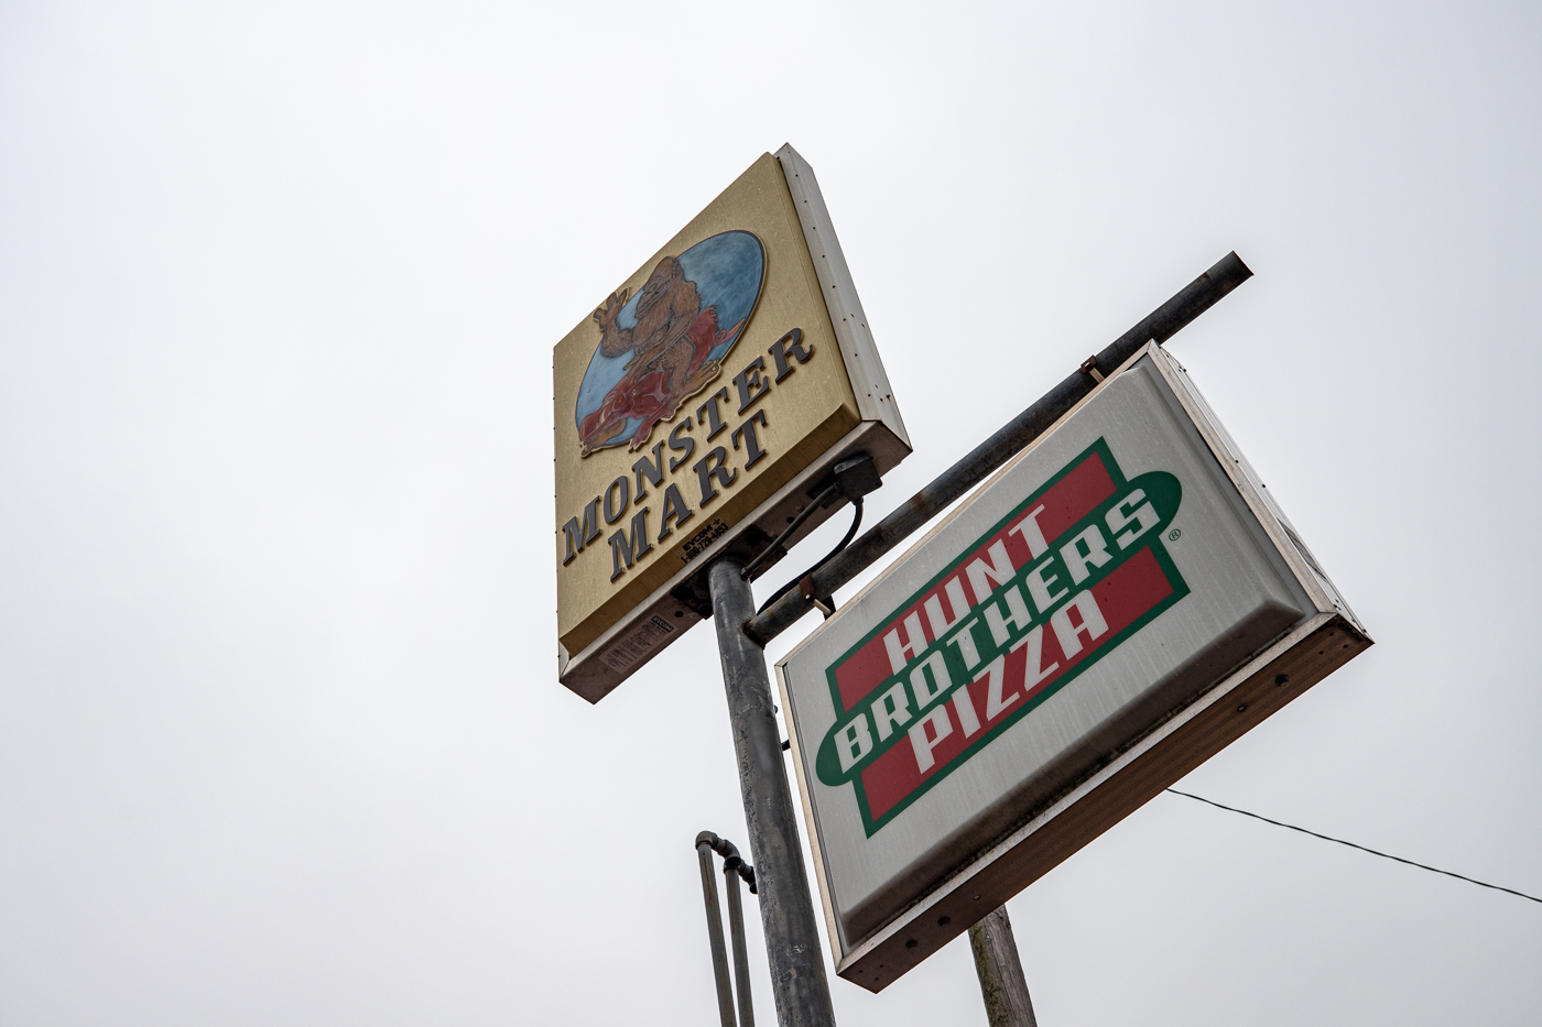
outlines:
[[[558, 646], [557, 680], [591, 703], [604, 699], [621, 682], [672, 645], [674, 638], [665, 645], [654, 646], [625, 671], [609, 668], [600, 657], [623, 635], [637, 629], [641, 621], [657, 615], [675, 628], [674, 634], [680, 634], [706, 620], [699, 609], [675, 598], [674, 592], [697, 575], [705, 575], [706, 567], [722, 557], [746, 530], [760, 526], [762, 530], [766, 530], [774, 538], [780, 534], [779, 526], [785, 524], [786, 518], [808, 506], [810, 497], [806, 492], [810, 486], [851, 453], [867, 452], [873, 456], [879, 475], [888, 473], [911, 453], [910, 435], [905, 432], [905, 423], [901, 419], [899, 406], [894, 402], [890, 390], [884, 361], [868, 330], [867, 315], [862, 311], [862, 301], [857, 298], [856, 282], [840, 250], [834, 222], [830, 219], [830, 210], [825, 207], [823, 194], [819, 191], [819, 179], [814, 176], [813, 167], [803, 160], [802, 154], [793, 150], [791, 143], [783, 143], [774, 156], [782, 167], [782, 176], [786, 180], [793, 205], [797, 210], [799, 224], [803, 230], [803, 242], [814, 264], [830, 325], [839, 342], [840, 361], [847, 370], [851, 393], [857, 399], [857, 415], [862, 418], [862, 423], [847, 432], [836, 446], [810, 463], [808, 467], [796, 473], [791, 481], [771, 493], [769, 498], [751, 510], [726, 535], [708, 546], [702, 555], [654, 589], [626, 617], [606, 628], [598, 638], [577, 654], [563, 652], [561, 646]], [[791, 549], [793, 544], [805, 538], [845, 506], [848, 503], [842, 500], [811, 514], [785, 543], [786, 547]]]

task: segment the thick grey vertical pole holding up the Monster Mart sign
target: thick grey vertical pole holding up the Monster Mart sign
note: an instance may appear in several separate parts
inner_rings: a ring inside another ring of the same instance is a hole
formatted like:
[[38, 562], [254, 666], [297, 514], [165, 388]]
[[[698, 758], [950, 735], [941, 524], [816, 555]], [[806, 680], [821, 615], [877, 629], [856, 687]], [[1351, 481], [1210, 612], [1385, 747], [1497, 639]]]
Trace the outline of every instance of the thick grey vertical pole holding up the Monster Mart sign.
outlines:
[[756, 601], [742, 577], [743, 566], [742, 560], [723, 557], [708, 571], [708, 583], [777, 1022], [780, 1027], [834, 1027], [765, 651], [745, 634], [745, 621], [756, 615]]

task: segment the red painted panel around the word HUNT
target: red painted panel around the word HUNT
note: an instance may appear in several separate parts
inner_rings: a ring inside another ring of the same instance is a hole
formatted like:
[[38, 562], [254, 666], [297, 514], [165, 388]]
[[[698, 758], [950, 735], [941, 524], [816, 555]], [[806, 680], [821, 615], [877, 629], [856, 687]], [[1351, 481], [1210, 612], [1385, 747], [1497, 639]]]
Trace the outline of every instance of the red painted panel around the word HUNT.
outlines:
[[[1044, 507], [1044, 512], [1038, 515], [1039, 530], [1044, 538], [1053, 543], [1066, 529], [1086, 517], [1090, 510], [1096, 509], [1099, 503], [1113, 495], [1113, 478], [1109, 476], [1109, 469], [1103, 466], [1103, 458], [1098, 453], [1090, 453], [1084, 461], [1076, 464], [1069, 470], [1059, 481], [1050, 486], [1049, 492], [1039, 497], [1027, 514], [1032, 514], [1038, 507]], [[1016, 523], [1013, 518], [1012, 524]], [[945, 621], [956, 621], [965, 611], [954, 611], [953, 601], [947, 594], [947, 586], [950, 581], [958, 581], [962, 588], [962, 594], [973, 606], [978, 606], [981, 598], [973, 595], [973, 588], [970, 588], [968, 575], [965, 567], [971, 560], [987, 557], [987, 552], [993, 544], [1005, 543], [1007, 555], [1012, 558], [1015, 567], [1024, 567], [1033, 558], [1029, 552], [1029, 544], [1022, 540], [1021, 532], [1012, 532], [1012, 524], [1007, 524], [999, 532], [987, 538], [979, 547], [964, 557], [958, 567], [948, 574], [942, 581], [938, 581], [934, 588], [927, 591], [925, 595], [917, 598], [911, 606], [894, 614], [880, 631], [877, 631], [873, 638], [851, 654], [851, 658], [836, 668], [836, 685], [840, 688], [840, 702], [843, 703], [842, 712], [851, 709], [857, 702], [860, 702], [868, 692], [884, 683], [893, 674], [890, 666], [888, 651], [884, 648], [884, 634], [891, 628], [901, 628], [904, 631], [904, 623], [907, 617], [916, 617], [922, 626], [927, 641], [934, 641], [936, 634], [931, 626], [931, 615], [927, 611], [927, 603], [931, 601], [934, 609], [944, 617]], [[908, 748], [908, 746], [907, 746]], [[874, 814], [877, 816], [877, 814]]]

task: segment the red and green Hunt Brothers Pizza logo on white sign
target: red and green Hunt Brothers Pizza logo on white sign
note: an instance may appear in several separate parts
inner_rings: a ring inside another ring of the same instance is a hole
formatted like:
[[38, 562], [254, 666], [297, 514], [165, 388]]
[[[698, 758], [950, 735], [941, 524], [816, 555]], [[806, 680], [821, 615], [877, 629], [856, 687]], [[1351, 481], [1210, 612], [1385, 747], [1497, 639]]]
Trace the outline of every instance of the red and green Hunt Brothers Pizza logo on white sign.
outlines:
[[816, 766], [868, 834], [1189, 594], [1161, 544], [1181, 498], [1099, 438], [830, 668]]

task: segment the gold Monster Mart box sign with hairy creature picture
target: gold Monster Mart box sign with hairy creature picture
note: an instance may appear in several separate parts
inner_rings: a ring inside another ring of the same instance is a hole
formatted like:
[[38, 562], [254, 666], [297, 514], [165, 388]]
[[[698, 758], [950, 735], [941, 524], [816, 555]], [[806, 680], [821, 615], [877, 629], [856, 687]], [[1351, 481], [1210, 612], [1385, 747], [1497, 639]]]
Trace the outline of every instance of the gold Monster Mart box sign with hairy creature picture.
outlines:
[[774, 538], [837, 460], [910, 452], [791, 146], [601, 298], [552, 373], [558, 675], [591, 702], [709, 614], [712, 557]]

